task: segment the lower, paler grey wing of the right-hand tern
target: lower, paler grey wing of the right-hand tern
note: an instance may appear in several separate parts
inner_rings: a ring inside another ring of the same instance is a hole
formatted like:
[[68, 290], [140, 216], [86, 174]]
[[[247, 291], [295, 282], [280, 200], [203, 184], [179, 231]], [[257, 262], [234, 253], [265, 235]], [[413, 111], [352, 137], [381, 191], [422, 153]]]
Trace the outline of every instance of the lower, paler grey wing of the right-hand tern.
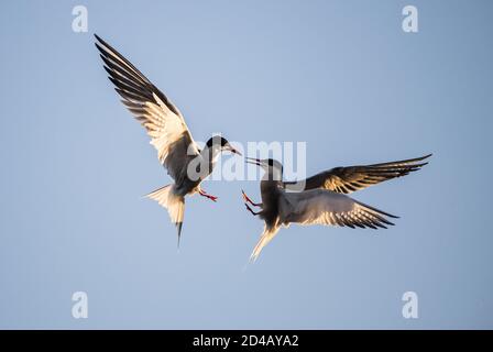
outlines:
[[386, 218], [393, 215], [359, 202], [348, 196], [326, 189], [284, 193], [280, 199], [280, 216], [284, 224], [328, 224], [359, 228], [393, 226]]

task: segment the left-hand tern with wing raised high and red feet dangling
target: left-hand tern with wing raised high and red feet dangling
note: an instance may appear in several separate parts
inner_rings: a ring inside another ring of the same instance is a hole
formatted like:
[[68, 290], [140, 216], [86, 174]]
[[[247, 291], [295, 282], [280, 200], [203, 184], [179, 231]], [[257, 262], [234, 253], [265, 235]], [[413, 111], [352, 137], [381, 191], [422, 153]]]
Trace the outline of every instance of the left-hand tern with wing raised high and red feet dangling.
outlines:
[[[183, 114], [139, 69], [96, 35], [96, 47], [105, 63], [108, 78], [122, 97], [123, 105], [145, 128], [157, 157], [174, 183], [146, 197], [167, 209], [178, 232], [178, 245], [185, 210], [185, 196], [198, 193], [213, 201], [217, 197], [200, 188], [224, 151], [240, 154], [221, 136], [212, 136], [200, 150], [191, 138]], [[241, 154], [240, 154], [241, 155]]]

